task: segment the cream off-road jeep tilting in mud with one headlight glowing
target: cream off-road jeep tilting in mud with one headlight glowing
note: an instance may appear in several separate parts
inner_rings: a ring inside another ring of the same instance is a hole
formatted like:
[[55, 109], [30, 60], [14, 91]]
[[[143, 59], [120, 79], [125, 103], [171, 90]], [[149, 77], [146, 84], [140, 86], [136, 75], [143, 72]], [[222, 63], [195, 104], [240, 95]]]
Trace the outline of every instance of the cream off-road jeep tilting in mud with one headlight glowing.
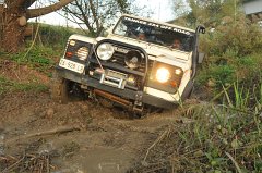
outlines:
[[56, 66], [52, 98], [87, 95], [135, 112], [171, 109], [192, 91], [199, 33], [204, 27], [122, 15], [105, 37], [72, 35]]

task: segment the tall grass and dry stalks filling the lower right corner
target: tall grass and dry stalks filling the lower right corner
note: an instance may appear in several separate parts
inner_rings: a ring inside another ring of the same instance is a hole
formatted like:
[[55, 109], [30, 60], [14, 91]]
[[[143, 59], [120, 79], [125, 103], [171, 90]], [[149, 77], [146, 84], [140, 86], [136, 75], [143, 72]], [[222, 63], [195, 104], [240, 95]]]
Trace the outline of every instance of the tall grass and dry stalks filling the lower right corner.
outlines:
[[262, 172], [262, 83], [238, 82], [224, 90], [222, 104], [199, 104], [174, 135], [179, 150], [170, 158], [175, 172]]

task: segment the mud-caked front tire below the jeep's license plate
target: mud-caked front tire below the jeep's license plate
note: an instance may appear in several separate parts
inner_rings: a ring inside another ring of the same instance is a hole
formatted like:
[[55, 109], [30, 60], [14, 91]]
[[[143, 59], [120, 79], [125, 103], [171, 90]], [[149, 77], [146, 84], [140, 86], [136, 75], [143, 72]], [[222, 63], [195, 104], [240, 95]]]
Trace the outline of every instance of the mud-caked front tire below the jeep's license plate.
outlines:
[[69, 101], [69, 85], [66, 78], [52, 73], [51, 78], [51, 99], [59, 103], [67, 103]]

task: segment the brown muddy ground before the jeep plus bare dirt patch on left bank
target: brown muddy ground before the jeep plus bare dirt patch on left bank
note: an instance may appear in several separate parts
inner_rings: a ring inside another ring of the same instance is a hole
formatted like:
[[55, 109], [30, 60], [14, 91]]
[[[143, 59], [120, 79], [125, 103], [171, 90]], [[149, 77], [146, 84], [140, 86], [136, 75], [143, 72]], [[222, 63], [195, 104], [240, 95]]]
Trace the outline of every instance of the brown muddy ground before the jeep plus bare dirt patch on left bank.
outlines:
[[[34, 81], [49, 83], [26, 66], [19, 66], [16, 74], [16, 65], [4, 66], [9, 67], [0, 73], [9, 78], [29, 82], [34, 74]], [[146, 163], [163, 134], [184, 120], [178, 108], [131, 119], [124, 110], [92, 100], [56, 103], [48, 90], [4, 92], [0, 95], [0, 171], [141, 172], [135, 166]]]

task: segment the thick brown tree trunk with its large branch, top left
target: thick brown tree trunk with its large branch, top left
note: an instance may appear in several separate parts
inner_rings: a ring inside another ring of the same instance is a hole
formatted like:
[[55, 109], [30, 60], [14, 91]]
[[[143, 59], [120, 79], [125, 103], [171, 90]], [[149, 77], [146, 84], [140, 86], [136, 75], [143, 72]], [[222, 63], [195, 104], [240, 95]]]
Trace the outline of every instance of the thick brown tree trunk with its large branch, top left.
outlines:
[[36, 0], [5, 0], [0, 4], [0, 50], [17, 52], [24, 47], [24, 34], [28, 18], [48, 14], [74, 0], [59, 0], [57, 3], [39, 9], [28, 9]]

